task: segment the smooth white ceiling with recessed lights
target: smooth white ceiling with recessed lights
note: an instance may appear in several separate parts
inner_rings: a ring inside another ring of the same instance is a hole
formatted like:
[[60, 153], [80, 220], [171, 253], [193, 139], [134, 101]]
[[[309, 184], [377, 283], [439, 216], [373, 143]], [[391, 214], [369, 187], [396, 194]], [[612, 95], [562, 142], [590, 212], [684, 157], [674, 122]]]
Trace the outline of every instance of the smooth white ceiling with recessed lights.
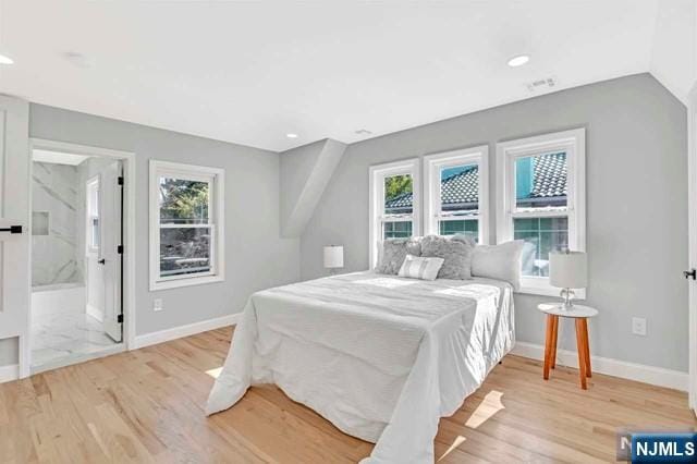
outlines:
[[[550, 75], [651, 71], [661, 1], [0, 0], [15, 61], [0, 93], [272, 150], [352, 143], [529, 98]], [[509, 68], [518, 53], [529, 64]]]

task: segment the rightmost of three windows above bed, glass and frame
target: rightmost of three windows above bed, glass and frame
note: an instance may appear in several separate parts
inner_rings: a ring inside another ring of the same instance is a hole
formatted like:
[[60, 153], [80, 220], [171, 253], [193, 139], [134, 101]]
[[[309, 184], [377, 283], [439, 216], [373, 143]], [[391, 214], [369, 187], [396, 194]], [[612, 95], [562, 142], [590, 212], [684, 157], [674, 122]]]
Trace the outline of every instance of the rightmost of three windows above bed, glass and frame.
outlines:
[[549, 284], [550, 252], [586, 249], [585, 138], [579, 129], [497, 146], [497, 239], [525, 241], [524, 293], [557, 295]]

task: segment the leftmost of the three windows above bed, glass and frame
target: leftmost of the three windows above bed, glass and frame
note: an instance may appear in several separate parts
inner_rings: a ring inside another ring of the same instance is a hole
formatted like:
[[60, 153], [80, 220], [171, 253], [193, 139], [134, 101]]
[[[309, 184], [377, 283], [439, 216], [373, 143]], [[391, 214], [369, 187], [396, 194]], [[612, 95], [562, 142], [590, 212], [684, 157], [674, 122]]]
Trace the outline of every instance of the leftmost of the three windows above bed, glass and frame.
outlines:
[[418, 235], [418, 159], [370, 168], [370, 264], [384, 239]]

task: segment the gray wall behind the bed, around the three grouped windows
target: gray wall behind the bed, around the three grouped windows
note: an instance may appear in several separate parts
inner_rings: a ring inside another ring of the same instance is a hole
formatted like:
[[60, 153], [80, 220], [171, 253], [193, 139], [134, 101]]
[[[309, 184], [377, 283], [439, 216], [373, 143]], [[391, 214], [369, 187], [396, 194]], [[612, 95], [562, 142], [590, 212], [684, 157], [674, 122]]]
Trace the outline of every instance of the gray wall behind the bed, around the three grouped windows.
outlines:
[[[587, 130], [588, 304], [596, 355], [687, 370], [686, 110], [640, 74], [541, 96], [348, 146], [301, 240], [301, 274], [325, 273], [322, 245], [343, 244], [347, 270], [368, 267], [368, 167], [489, 144], [496, 205], [496, 143], [573, 127]], [[492, 211], [493, 212], [493, 211]], [[492, 213], [491, 243], [496, 233]], [[537, 304], [516, 295], [519, 341], [543, 344]], [[648, 335], [632, 334], [646, 317]], [[571, 325], [561, 347], [574, 349]]]

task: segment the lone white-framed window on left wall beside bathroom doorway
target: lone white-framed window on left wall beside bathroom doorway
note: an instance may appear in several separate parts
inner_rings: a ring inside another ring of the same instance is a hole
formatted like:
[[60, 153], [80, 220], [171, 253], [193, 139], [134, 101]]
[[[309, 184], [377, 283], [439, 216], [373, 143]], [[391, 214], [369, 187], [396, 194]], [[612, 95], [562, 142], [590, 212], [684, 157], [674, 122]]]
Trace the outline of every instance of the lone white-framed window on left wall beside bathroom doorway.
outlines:
[[150, 290], [223, 280], [224, 171], [150, 161]]

